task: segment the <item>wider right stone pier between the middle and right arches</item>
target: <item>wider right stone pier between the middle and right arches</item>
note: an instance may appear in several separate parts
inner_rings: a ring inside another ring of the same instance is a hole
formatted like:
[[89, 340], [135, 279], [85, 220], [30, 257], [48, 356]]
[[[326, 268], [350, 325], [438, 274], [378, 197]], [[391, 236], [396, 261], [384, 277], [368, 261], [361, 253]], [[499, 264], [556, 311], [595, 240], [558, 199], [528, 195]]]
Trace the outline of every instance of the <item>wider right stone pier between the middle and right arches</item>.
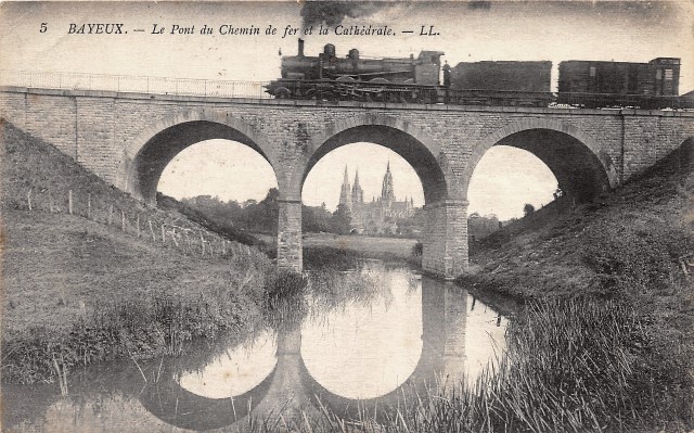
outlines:
[[468, 268], [467, 201], [446, 199], [424, 206], [426, 227], [422, 269], [452, 280]]

